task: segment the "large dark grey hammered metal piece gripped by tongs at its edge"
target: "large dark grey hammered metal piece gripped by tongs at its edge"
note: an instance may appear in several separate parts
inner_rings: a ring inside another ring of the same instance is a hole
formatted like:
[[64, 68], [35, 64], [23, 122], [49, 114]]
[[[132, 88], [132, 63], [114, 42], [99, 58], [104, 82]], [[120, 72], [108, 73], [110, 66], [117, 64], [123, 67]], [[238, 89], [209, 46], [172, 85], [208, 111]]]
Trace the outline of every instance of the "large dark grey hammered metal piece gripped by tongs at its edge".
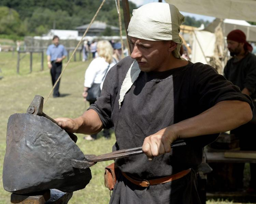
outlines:
[[67, 132], [43, 116], [16, 113], [9, 117], [3, 187], [18, 194], [46, 189], [72, 192], [85, 188], [90, 169], [73, 168], [84, 154]]

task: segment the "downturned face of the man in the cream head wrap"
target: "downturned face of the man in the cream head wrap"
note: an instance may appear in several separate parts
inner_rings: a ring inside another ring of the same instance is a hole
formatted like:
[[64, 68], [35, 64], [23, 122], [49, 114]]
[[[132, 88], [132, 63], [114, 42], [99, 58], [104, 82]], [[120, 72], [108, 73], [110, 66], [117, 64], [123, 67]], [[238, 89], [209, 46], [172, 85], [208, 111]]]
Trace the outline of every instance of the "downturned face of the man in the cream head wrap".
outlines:
[[166, 69], [166, 60], [170, 57], [169, 44], [163, 41], [147, 41], [129, 37], [131, 57], [135, 59], [143, 72], [161, 72]]

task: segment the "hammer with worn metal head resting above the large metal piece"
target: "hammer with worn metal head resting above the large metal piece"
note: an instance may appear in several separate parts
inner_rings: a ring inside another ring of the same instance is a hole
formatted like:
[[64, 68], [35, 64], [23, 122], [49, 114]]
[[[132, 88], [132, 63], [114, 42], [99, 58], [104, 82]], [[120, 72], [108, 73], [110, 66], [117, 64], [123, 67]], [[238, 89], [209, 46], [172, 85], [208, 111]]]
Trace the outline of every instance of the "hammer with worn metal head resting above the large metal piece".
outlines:
[[[55, 120], [53, 120], [51, 117], [49, 117], [43, 112], [43, 103], [44, 103], [44, 97], [35, 95], [33, 101], [31, 102], [30, 106], [27, 109], [27, 113], [46, 117], [47, 119], [51, 120], [52, 122], [58, 125], [58, 123]], [[74, 142], [77, 141], [76, 135], [70, 132], [67, 132], [67, 133]]]

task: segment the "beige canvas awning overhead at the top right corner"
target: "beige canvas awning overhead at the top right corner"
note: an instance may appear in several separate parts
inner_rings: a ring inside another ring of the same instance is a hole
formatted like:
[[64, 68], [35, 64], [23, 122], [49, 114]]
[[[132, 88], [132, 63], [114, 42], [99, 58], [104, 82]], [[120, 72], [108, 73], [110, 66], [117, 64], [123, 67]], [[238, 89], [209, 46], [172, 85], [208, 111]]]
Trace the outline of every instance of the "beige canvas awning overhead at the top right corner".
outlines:
[[256, 0], [165, 0], [180, 11], [216, 18], [256, 21]]

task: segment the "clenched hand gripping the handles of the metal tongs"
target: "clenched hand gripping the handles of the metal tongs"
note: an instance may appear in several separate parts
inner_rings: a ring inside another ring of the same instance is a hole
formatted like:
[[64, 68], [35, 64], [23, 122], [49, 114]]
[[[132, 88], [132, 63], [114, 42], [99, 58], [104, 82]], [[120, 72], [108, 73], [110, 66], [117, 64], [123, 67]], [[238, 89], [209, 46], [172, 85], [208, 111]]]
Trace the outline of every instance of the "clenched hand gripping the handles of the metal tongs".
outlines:
[[171, 126], [159, 130], [155, 134], [144, 139], [142, 151], [151, 161], [152, 157], [165, 154], [171, 151], [171, 143], [177, 139]]

